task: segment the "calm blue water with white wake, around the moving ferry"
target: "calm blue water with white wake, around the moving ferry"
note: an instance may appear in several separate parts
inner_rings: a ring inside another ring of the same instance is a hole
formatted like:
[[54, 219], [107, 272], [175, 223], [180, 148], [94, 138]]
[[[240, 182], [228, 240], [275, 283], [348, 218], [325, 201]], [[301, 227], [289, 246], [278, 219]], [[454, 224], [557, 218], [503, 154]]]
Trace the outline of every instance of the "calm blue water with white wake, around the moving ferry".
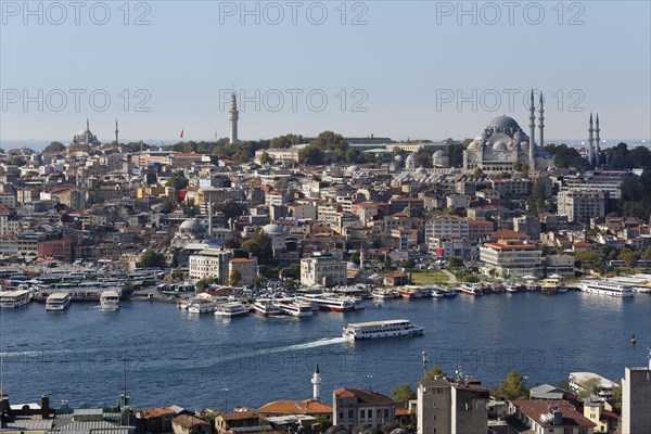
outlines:
[[[571, 371], [612, 380], [625, 366], [646, 366], [651, 346], [651, 296], [612, 299], [570, 292], [557, 296], [501, 294], [480, 298], [367, 302], [365, 310], [318, 312], [312, 318], [224, 320], [193, 317], [170, 304], [123, 303], [118, 312], [73, 304], [0, 314], [3, 387], [12, 403], [48, 393], [56, 406], [114, 404], [123, 390], [135, 407], [162, 405], [257, 407], [276, 399], [311, 397], [315, 365], [321, 396], [342, 386], [388, 393], [422, 374], [421, 353], [441, 365], [494, 385], [515, 368], [536, 382], [557, 383]], [[407, 318], [424, 326], [420, 337], [345, 343], [348, 322]], [[637, 347], [629, 343], [637, 335]]]

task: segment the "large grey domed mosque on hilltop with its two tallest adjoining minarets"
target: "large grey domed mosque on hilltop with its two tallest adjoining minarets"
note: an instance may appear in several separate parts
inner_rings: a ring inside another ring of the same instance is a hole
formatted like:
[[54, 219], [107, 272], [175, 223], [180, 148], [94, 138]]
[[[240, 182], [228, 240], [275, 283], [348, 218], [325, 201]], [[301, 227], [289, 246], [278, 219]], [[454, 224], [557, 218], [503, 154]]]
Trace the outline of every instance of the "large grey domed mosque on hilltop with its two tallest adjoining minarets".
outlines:
[[498, 116], [493, 119], [463, 151], [463, 170], [472, 171], [478, 168], [484, 173], [508, 173], [520, 165], [527, 165], [529, 169], [549, 167], [551, 161], [546, 157], [542, 150], [545, 132], [542, 94], [538, 107], [538, 143], [534, 141], [535, 112], [532, 91], [528, 136], [512, 117]]

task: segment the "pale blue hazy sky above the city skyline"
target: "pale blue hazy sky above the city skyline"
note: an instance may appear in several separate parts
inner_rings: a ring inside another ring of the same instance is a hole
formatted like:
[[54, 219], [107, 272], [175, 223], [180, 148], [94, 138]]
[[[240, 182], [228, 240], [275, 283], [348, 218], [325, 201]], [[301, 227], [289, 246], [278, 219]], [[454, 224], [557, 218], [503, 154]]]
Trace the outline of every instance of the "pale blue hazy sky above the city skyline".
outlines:
[[283, 133], [651, 138], [651, 2], [1, 2], [0, 144]]

